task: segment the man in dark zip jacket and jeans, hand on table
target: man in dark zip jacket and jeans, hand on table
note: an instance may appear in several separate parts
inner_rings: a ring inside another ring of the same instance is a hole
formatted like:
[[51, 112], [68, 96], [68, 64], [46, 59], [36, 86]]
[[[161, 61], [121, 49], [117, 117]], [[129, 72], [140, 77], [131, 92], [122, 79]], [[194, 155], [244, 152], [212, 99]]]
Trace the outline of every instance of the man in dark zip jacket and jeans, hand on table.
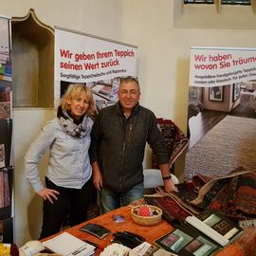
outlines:
[[140, 89], [133, 77], [119, 85], [119, 102], [103, 108], [91, 133], [90, 157], [93, 182], [101, 192], [104, 212], [143, 197], [143, 167], [146, 142], [156, 155], [166, 192], [177, 189], [171, 179], [169, 157], [152, 111], [139, 105]]

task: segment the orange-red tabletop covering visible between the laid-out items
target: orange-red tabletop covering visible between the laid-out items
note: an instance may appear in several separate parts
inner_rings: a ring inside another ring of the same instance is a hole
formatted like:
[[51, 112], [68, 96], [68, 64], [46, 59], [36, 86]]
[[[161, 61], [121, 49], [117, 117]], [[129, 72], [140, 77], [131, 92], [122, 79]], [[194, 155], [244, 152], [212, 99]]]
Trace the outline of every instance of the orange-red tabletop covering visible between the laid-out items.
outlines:
[[[104, 247], [107, 247], [108, 245], [111, 244], [111, 240], [113, 239], [113, 235], [107, 235], [104, 237], [102, 240], [89, 234], [82, 232], [79, 230], [82, 226], [84, 226], [86, 223], [97, 223], [100, 224], [101, 226], [110, 229], [112, 233], [116, 231], [122, 231], [122, 230], [127, 230], [131, 232], [135, 232], [138, 235], [141, 235], [146, 238], [146, 241], [154, 244], [155, 239], [159, 238], [160, 236], [174, 230], [174, 227], [172, 227], [168, 222], [165, 220], [161, 220], [159, 224], [157, 224], [154, 227], [143, 227], [139, 226], [136, 223], [133, 222], [132, 217], [131, 217], [131, 211], [132, 206], [126, 206], [119, 208], [117, 210], [110, 211], [108, 213], [102, 214], [94, 219], [91, 219], [89, 221], [86, 221], [78, 226], [65, 229], [64, 231], [69, 232], [70, 234], [84, 240], [88, 240], [91, 242], [94, 242], [98, 244], [100, 247], [96, 251], [96, 256], [100, 255], [102, 249]], [[113, 216], [115, 214], [121, 214], [124, 216], [125, 221], [123, 223], [115, 223], [113, 220]], [[46, 241], [54, 236], [52, 235], [50, 237], [47, 237], [46, 239], [43, 239], [43, 241]], [[238, 247], [236, 245], [229, 245], [228, 247], [225, 247], [221, 251], [216, 253], [216, 256], [243, 256], [243, 250], [241, 247]]]

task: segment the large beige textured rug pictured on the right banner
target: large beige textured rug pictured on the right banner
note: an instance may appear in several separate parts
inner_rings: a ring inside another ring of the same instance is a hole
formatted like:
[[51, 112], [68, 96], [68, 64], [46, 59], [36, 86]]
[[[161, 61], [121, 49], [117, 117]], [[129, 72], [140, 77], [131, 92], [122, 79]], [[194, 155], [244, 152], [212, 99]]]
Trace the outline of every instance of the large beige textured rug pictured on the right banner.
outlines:
[[237, 167], [256, 172], [256, 119], [227, 116], [186, 154], [185, 179], [226, 175]]

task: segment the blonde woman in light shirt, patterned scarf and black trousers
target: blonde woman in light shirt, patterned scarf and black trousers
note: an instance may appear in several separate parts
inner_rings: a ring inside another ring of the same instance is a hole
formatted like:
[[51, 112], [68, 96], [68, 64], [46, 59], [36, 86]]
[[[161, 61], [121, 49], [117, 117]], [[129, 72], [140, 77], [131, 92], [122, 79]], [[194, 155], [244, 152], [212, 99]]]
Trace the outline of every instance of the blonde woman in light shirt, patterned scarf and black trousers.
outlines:
[[[69, 214], [70, 226], [86, 220], [92, 196], [89, 161], [91, 117], [95, 113], [92, 92], [83, 84], [70, 84], [58, 108], [25, 155], [27, 180], [43, 199], [40, 239], [59, 232]], [[49, 150], [46, 187], [40, 180], [38, 162]]]

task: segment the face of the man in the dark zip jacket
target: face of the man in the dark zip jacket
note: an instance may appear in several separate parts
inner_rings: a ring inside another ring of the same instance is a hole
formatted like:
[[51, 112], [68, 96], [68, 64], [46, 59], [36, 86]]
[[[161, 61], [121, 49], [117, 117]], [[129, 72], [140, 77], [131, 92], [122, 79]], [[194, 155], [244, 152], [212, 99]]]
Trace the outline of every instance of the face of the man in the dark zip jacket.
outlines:
[[123, 110], [132, 110], [140, 97], [137, 82], [121, 82], [119, 86], [119, 102]]

